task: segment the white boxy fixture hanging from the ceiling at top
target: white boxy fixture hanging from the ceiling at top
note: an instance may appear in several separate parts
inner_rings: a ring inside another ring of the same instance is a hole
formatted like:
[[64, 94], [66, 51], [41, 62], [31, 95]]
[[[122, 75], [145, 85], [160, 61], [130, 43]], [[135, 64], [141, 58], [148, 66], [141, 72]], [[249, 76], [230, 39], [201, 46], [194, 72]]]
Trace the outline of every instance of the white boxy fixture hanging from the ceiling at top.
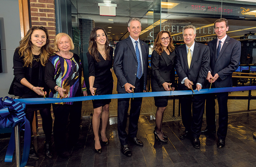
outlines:
[[111, 3], [111, 0], [103, 0], [104, 3], [98, 3], [99, 15], [116, 16], [117, 4]]

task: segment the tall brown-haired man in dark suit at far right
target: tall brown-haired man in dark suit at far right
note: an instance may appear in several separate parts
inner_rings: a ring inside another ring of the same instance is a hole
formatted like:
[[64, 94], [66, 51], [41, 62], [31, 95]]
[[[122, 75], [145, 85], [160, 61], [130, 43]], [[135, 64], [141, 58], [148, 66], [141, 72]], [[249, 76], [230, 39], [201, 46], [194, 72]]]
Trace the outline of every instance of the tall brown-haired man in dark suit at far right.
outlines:
[[[241, 56], [241, 43], [226, 35], [228, 22], [221, 18], [215, 21], [214, 31], [218, 38], [209, 42], [210, 48], [210, 68], [207, 75], [209, 84], [212, 87], [232, 87], [232, 73], [239, 66]], [[207, 127], [202, 132], [215, 132], [215, 96], [219, 104], [219, 129], [218, 148], [225, 146], [227, 133], [227, 98], [228, 92], [209, 94], [206, 99], [206, 122]]]

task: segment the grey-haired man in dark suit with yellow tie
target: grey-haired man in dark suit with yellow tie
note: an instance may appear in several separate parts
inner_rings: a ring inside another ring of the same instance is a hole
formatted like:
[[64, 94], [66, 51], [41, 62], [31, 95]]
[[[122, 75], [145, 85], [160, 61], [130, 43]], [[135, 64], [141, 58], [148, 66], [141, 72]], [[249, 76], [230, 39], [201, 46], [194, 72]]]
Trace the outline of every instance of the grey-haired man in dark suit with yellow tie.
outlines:
[[[186, 45], [175, 49], [175, 69], [179, 76], [179, 89], [202, 89], [207, 77], [210, 63], [209, 47], [194, 42], [196, 29], [189, 25], [183, 28], [183, 38]], [[189, 135], [192, 145], [200, 148], [200, 131], [202, 126], [205, 95], [183, 95], [180, 97], [182, 123], [185, 131], [181, 139]], [[192, 111], [191, 111], [192, 110]]]

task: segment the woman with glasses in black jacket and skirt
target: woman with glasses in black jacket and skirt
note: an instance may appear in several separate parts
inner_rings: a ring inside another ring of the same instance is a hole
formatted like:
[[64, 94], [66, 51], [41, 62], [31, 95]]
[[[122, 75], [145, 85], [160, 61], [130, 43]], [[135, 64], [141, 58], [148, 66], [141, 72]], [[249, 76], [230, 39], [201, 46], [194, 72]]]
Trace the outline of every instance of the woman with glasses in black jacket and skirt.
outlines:
[[[171, 33], [162, 30], [158, 33], [154, 42], [154, 51], [151, 56], [152, 91], [171, 91], [175, 89], [174, 58], [175, 52]], [[155, 105], [158, 107], [154, 135], [158, 140], [167, 142], [168, 137], [162, 132], [162, 117], [168, 105], [168, 96], [154, 97], [154, 99]]]

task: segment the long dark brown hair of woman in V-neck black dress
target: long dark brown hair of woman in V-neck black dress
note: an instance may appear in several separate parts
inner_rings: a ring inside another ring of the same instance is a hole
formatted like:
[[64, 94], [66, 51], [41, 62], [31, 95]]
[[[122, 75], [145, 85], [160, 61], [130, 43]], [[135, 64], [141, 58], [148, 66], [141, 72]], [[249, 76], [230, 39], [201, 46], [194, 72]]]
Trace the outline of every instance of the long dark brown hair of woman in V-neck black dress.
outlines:
[[98, 50], [97, 50], [97, 43], [96, 43], [96, 38], [97, 38], [96, 31], [99, 29], [102, 29], [106, 36], [105, 51], [106, 51], [106, 55], [107, 55], [107, 60], [110, 60], [109, 52], [111, 49], [111, 47], [109, 46], [109, 40], [108, 40], [108, 36], [107, 36], [105, 29], [100, 28], [100, 27], [94, 28], [90, 35], [88, 51], [89, 51], [90, 55], [92, 55], [96, 59], [97, 62], [100, 61], [98, 58]]

